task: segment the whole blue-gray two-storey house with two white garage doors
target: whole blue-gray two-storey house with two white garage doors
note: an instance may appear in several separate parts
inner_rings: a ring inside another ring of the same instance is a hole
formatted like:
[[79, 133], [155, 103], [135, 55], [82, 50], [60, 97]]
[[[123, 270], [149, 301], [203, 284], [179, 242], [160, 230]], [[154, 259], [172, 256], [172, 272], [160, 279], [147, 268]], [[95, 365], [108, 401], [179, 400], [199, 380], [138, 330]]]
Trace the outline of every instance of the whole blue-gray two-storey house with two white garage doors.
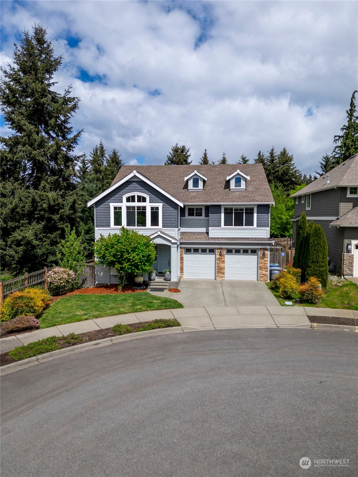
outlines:
[[[240, 167], [240, 169], [238, 169]], [[121, 227], [157, 244], [158, 274], [180, 278], [268, 281], [270, 206], [262, 164], [122, 166], [95, 206], [95, 239]], [[96, 267], [97, 283], [116, 270]]]

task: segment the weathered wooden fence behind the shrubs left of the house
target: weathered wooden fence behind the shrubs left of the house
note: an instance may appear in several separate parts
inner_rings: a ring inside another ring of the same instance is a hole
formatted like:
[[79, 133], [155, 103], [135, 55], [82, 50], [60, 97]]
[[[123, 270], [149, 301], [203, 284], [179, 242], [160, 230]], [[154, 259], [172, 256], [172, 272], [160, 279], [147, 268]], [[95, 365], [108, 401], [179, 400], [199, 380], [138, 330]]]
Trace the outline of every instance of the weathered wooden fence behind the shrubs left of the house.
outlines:
[[[94, 260], [86, 260], [86, 266], [83, 274], [78, 277], [78, 282], [81, 288], [88, 288], [95, 286], [95, 264]], [[54, 267], [45, 267], [42, 270], [34, 271], [32, 273], [25, 273], [22, 277], [13, 278], [12, 280], [0, 281], [0, 306], [4, 302], [4, 297], [10, 295], [13, 291], [25, 290], [26, 288], [42, 288], [47, 290], [47, 273]], [[68, 283], [68, 289], [72, 289], [72, 284]]]

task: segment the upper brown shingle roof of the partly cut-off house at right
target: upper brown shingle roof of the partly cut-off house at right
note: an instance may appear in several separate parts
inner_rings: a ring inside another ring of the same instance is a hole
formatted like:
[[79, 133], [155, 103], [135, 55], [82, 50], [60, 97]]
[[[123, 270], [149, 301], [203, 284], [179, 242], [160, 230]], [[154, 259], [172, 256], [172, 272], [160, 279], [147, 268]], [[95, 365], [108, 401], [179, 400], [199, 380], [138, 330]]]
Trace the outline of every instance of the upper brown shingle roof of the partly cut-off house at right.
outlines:
[[[329, 176], [327, 184], [327, 175]], [[331, 169], [318, 179], [299, 190], [291, 197], [304, 196], [320, 190], [332, 189], [334, 187], [358, 186], [358, 154], [342, 162], [339, 166]]]

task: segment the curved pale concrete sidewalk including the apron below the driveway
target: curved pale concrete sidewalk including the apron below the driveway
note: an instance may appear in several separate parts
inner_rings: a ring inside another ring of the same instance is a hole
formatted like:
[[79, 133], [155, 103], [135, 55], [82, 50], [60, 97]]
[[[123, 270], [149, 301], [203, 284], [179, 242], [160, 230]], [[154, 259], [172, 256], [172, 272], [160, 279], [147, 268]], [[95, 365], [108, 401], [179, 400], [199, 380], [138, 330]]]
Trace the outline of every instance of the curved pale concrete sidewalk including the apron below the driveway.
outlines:
[[225, 328], [284, 328], [287, 326], [310, 327], [308, 316], [337, 316], [358, 318], [358, 311], [331, 308], [282, 307], [282, 306], [205, 306], [171, 310], [140, 311], [123, 315], [76, 321], [51, 328], [1, 338], [0, 353], [7, 353], [16, 346], [69, 333], [110, 328], [117, 323], [130, 324], [157, 318], [176, 318], [183, 331], [214, 330]]

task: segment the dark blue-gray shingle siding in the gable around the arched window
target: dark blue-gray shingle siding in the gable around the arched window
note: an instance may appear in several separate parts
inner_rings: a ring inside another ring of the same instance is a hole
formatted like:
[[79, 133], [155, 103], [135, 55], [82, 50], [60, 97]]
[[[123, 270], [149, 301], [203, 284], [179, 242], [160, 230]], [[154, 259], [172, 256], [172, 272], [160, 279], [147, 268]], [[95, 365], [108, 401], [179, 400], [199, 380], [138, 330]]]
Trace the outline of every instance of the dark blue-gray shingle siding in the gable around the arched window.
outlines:
[[178, 227], [178, 205], [161, 192], [158, 192], [157, 189], [141, 180], [127, 181], [96, 202], [96, 227], [110, 227], [110, 202], [122, 202], [123, 196], [131, 192], [142, 192], [143, 194], [147, 194], [150, 202], [162, 202], [163, 228]]

